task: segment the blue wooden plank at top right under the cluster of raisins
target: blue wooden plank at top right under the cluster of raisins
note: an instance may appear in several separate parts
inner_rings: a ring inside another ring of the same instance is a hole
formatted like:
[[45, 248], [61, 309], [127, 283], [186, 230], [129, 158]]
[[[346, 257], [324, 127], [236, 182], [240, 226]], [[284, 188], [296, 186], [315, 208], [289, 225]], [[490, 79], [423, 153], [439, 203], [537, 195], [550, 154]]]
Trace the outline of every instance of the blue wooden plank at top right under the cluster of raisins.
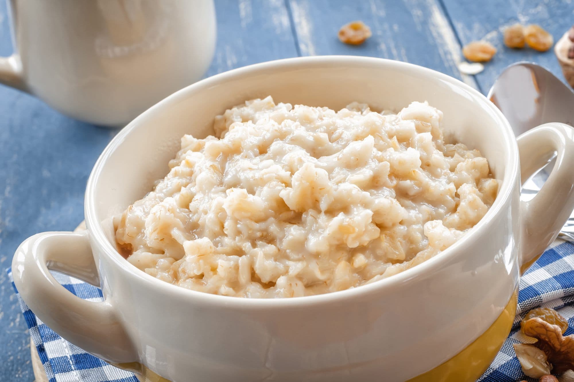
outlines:
[[557, 41], [574, 23], [574, 4], [571, 0], [442, 1], [462, 44], [484, 39], [498, 48], [494, 59], [484, 65], [484, 72], [476, 75], [479, 87], [484, 93], [488, 92], [507, 65], [517, 61], [541, 64], [563, 79], [553, 49], [540, 53], [529, 48], [507, 48], [502, 42], [502, 31], [516, 22], [540, 24], [552, 33], [554, 41]]

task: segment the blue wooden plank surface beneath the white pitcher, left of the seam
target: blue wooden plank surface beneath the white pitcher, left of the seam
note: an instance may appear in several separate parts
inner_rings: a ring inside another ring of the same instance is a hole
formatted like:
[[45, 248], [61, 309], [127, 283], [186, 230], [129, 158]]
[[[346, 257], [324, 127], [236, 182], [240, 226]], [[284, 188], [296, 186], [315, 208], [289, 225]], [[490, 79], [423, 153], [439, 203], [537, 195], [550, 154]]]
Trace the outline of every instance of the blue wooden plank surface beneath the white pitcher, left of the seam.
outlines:
[[[216, 1], [218, 43], [207, 76], [297, 56], [283, 0]], [[0, 1], [0, 54], [12, 51]], [[182, 84], [182, 86], [187, 84]], [[84, 219], [86, 181], [117, 131], [69, 119], [40, 100], [0, 86], [0, 380], [33, 380], [29, 335], [5, 269], [18, 244]]]

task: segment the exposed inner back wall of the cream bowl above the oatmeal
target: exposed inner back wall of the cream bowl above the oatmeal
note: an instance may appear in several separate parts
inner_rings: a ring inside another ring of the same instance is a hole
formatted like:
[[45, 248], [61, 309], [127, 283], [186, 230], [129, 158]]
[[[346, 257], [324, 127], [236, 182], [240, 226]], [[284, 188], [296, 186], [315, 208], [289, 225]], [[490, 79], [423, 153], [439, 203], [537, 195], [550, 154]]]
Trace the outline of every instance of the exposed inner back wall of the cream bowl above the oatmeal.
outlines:
[[[504, 180], [515, 160], [514, 136], [506, 120], [484, 96], [451, 77], [416, 65], [366, 57], [280, 60], [200, 81], [131, 122], [110, 143], [92, 173], [93, 190], [88, 185], [95, 207], [91, 221], [109, 220], [148, 193], [153, 182], [168, 173], [168, 161], [179, 150], [184, 134], [204, 138], [213, 132], [215, 115], [267, 95], [276, 103], [335, 110], [358, 101], [377, 111], [399, 111], [410, 102], [426, 100], [443, 111], [446, 136], [479, 149], [495, 178]], [[110, 225], [106, 225], [106, 236], [113, 243]]]

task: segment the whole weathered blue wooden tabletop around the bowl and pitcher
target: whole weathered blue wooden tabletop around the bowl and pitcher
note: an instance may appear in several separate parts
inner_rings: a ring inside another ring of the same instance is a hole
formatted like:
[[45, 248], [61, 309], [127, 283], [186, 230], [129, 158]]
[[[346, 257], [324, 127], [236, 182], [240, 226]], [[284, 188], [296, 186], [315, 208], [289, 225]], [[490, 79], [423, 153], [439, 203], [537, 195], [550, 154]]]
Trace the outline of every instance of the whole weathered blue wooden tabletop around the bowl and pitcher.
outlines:
[[[423, 65], [483, 93], [515, 61], [540, 63], [562, 77], [552, 50], [505, 48], [504, 26], [540, 24], [557, 40], [574, 22], [569, 0], [215, 1], [218, 44], [206, 76], [285, 57], [354, 54]], [[344, 45], [336, 37], [340, 26], [352, 20], [373, 30], [363, 45]], [[461, 75], [461, 45], [481, 38], [499, 52], [484, 72]], [[11, 49], [6, 5], [0, 1], [0, 55]], [[69, 119], [29, 95], [0, 86], [1, 381], [34, 379], [26, 325], [3, 270], [26, 237], [69, 231], [83, 220], [88, 175], [116, 132]]]

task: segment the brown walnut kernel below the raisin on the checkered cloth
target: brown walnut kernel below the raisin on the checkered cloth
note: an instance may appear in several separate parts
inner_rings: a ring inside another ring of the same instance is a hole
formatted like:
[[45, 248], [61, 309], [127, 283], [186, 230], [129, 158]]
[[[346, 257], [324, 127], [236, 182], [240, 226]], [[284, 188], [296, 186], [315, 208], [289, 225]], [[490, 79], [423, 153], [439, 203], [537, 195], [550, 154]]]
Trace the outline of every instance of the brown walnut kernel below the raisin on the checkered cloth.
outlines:
[[574, 334], [563, 336], [560, 326], [552, 325], [538, 317], [526, 321], [522, 332], [538, 340], [534, 346], [546, 354], [554, 373], [574, 369]]

